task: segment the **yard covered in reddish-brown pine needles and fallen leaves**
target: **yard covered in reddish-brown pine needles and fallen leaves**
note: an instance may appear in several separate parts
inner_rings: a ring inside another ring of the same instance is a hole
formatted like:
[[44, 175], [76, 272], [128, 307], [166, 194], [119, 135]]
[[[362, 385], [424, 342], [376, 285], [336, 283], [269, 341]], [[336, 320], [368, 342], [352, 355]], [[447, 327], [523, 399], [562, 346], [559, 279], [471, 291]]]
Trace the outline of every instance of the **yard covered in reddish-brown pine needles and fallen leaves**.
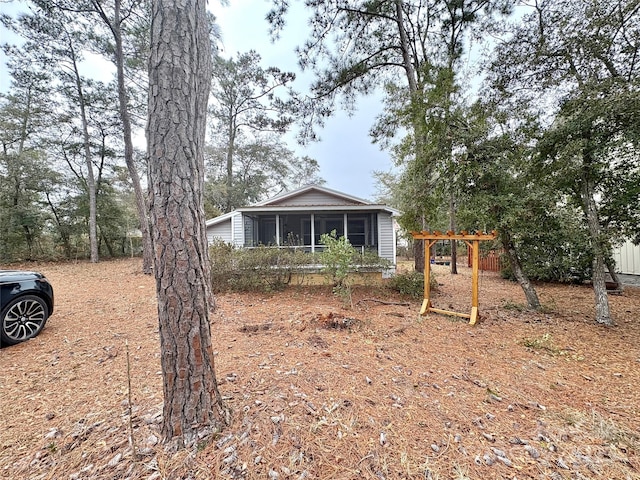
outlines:
[[[538, 285], [545, 312], [531, 313], [486, 273], [475, 327], [382, 290], [353, 309], [326, 287], [218, 296], [232, 424], [170, 454], [153, 278], [139, 260], [27, 268], [56, 310], [0, 350], [0, 478], [640, 478], [638, 288], [610, 297], [611, 328], [586, 286]], [[435, 306], [468, 311], [469, 271], [437, 273]]]

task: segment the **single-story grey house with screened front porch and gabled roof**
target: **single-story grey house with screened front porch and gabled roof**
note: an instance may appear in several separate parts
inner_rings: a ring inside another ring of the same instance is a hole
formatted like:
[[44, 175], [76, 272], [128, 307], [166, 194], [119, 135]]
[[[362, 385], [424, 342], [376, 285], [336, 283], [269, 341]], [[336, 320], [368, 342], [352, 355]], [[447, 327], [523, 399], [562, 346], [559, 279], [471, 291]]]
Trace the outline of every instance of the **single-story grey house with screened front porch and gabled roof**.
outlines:
[[[308, 185], [207, 221], [209, 242], [261, 245], [317, 252], [320, 236], [336, 231], [356, 249], [373, 250], [396, 265], [393, 217], [400, 212], [346, 193]], [[386, 276], [386, 275], [385, 275]]]

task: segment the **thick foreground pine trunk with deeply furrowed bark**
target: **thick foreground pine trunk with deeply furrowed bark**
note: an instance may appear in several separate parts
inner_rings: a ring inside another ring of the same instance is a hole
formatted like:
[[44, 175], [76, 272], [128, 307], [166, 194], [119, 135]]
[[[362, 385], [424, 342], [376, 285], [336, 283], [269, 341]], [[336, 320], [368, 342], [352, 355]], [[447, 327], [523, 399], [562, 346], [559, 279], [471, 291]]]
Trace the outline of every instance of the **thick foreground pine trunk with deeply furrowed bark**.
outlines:
[[149, 184], [164, 379], [165, 442], [193, 445], [225, 421], [214, 370], [203, 209], [211, 82], [205, 0], [155, 0], [149, 61]]

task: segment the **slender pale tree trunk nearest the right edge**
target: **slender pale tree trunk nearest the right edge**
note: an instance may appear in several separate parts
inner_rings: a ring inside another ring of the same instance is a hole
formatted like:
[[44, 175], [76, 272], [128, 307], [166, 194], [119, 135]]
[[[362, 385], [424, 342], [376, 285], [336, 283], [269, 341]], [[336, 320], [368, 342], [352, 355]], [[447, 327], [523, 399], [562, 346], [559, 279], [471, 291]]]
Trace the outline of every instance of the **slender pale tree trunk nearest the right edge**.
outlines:
[[609, 296], [605, 280], [605, 248], [600, 231], [600, 219], [598, 218], [598, 206], [594, 198], [594, 187], [588, 174], [585, 173], [582, 180], [582, 208], [587, 217], [589, 237], [593, 250], [593, 263], [591, 283], [596, 301], [596, 322], [602, 325], [613, 325], [609, 310]]

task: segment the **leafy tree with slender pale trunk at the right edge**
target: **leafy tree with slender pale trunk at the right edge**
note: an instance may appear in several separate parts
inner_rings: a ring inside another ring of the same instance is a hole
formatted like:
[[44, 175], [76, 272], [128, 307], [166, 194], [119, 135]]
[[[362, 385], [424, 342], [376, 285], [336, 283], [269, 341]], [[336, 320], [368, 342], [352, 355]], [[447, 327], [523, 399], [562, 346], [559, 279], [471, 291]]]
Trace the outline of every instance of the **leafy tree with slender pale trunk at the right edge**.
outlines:
[[540, 119], [537, 179], [582, 209], [595, 318], [612, 325], [604, 273], [610, 245], [637, 231], [640, 217], [638, 2], [557, 0], [532, 9], [494, 52], [492, 83]]

